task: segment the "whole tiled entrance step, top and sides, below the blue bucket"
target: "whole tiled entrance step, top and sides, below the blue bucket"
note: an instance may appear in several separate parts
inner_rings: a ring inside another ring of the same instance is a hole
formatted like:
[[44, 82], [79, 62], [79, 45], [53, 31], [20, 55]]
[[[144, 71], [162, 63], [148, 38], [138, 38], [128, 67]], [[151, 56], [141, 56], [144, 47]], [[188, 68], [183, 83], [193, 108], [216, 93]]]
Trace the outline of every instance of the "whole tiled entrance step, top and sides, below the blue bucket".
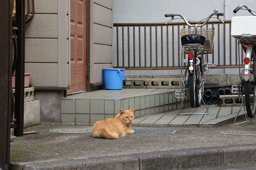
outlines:
[[[61, 123], [93, 125], [98, 120], [114, 117], [120, 109], [135, 106], [135, 118], [179, 109], [181, 99], [175, 98], [179, 89], [98, 90], [70, 95], [61, 99]], [[189, 107], [185, 96], [182, 108]]]

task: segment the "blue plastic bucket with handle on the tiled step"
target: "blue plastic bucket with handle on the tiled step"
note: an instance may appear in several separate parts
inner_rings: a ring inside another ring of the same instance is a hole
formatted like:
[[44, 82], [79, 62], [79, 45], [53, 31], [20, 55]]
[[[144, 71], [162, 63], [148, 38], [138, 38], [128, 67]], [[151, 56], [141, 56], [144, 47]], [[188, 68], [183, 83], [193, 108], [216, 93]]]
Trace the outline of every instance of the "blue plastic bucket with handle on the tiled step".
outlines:
[[123, 75], [125, 69], [103, 69], [104, 84], [106, 90], [122, 90], [123, 81], [126, 80]]

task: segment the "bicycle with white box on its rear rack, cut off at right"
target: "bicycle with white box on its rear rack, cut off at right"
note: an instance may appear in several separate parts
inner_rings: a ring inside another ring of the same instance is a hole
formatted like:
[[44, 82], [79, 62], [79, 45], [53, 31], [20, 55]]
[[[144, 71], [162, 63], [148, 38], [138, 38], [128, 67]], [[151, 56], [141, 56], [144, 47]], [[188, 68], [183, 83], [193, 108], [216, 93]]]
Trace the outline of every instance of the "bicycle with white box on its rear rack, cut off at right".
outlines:
[[[235, 16], [238, 10], [248, 10], [252, 16]], [[240, 75], [240, 97], [242, 98], [242, 107], [243, 103], [243, 94], [245, 99], [245, 108], [249, 118], [253, 118], [256, 114], [256, 12], [252, 11], [247, 5], [241, 4], [236, 7], [234, 10], [234, 15], [231, 18], [231, 36], [238, 39], [238, 44], [241, 44], [245, 51], [245, 58], [243, 59], [244, 66], [243, 70], [240, 73], [240, 57], [239, 57], [239, 75]], [[238, 51], [239, 45], [238, 45]], [[240, 56], [240, 54], [238, 54]], [[244, 111], [245, 111], [244, 108]], [[240, 112], [238, 111], [238, 114]], [[237, 114], [237, 116], [238, 116]], [[236, 118], [237, 118], [236, 116]], [[235, 124], [236, 124], [235, 118]], [[248, 123], [256, 123], [255, 121], [249, 121], [245, 118]], [[241, 123], [245, 123], [241, 122]], [[241, 124], [239, 123], [239, 124]]]

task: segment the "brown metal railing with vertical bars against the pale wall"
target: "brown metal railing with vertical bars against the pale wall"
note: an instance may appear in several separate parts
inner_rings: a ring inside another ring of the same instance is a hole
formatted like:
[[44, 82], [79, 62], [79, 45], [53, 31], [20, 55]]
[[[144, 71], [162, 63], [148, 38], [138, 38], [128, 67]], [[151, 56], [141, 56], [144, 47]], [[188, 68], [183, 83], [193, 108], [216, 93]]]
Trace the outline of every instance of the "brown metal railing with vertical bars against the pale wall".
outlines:
[[[195, 22], [191, 22], [194, 24]], [[237, 40], [230, 36], [230, 20], [209, 21], [204, 28], [215, 28], [212, 54], [205, 54], [215, 68], [238, 68]], [[113, 24], [113, 67], [127, 70], [181, 68], [180, 29], [185, 22]], [[243, 65], [244, 53], [241, 50]], [[184, 54], [183, 58], [187, 56]], [[185, 66], [185, 65], [184, 65]], [[184, 67], [185, 68], [185, 67]]]

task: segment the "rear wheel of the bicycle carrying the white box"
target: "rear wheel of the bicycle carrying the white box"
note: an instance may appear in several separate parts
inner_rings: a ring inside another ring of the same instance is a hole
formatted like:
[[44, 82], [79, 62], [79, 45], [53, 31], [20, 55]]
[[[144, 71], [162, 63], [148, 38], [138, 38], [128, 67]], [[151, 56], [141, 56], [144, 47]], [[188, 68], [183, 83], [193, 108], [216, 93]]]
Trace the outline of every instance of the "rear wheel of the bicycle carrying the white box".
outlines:
[[[255, 62], [254, 62], [255, 61]], [[249, 118], [253, 118], [256, 113], [256, 77], [254, 75], [256, 71], [256, 47], [253, 47], [251, 60], [250, 60], [250, 79], [244, 82], [244, 97], [245, 97], [245, 107], [247, 115]]]

